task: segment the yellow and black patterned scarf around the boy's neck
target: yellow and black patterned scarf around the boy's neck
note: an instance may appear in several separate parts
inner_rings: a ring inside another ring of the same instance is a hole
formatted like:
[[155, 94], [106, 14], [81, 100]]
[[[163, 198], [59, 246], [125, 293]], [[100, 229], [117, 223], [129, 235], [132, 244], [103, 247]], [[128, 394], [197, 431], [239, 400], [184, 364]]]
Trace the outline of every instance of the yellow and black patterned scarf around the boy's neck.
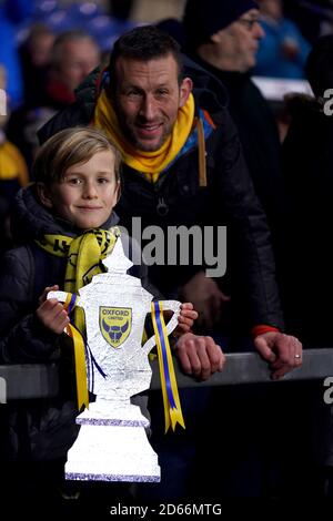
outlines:
[[[78, 295], [94, 275], [103, 272], [101, 260], [113, 249], [120, 229], [88, 229], [78, 237], [47, 234], [37, 244], [58, 257], [67, 257], [64, 292]], [[74, 311], [75, 327], [84, 335], [84, 314], [80, 307]]]

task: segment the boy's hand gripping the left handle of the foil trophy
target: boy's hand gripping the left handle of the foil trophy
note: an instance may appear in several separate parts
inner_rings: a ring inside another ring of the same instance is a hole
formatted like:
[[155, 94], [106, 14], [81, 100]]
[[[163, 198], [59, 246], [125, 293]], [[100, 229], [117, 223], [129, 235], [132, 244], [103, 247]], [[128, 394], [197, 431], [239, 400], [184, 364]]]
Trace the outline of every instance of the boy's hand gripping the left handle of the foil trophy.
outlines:
[[37, 308], [36, 314], [44, 327], [57, 335], [61, 335], [70, 321], [68, 313], [57, 298], [50, 298], [50, 300], [47, 300], [48, 293], [51, 290], [57, 292], [58, 289], [58, 286], [52, 286], [47, 287], [43, 290], [43, 294], [39, 298], [40, 306]]

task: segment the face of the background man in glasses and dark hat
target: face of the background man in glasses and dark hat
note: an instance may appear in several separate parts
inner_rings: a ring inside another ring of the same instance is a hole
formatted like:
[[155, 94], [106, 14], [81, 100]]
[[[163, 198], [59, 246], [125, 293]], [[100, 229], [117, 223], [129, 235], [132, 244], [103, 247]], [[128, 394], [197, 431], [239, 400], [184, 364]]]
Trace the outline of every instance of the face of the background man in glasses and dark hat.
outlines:
[[259, 10], [250, 9], [212, 37], [212, 40], [219, 44], [223, 60], [230, 63], [229, 70], [246, 72], [255, 65], [259, 41], [264, 35], [258, 20]]

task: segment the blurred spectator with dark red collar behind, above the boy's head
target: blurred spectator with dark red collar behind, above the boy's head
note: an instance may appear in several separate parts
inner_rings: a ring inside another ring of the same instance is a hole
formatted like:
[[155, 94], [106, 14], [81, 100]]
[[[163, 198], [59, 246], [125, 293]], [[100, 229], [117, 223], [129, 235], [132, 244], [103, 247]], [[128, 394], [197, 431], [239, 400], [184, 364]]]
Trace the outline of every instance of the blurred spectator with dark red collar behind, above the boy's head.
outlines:
[[8, 135], [29, 166], [38, 149], [38, 129], [74, 101], [74, 89], [99, 63], [99, 47], [87, 32], [71, 30], [56, 39], [44, 85], [34, 86], [34, 100], [17, 110], [8, 124]]

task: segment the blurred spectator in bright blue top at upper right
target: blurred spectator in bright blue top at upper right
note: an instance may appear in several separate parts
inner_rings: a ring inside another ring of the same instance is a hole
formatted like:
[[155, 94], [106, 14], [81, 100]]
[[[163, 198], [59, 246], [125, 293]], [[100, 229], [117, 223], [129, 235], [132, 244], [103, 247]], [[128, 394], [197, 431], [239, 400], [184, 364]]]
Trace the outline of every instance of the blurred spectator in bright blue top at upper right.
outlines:
[[261, 76], [304, 78], [310, 44], [297, 25], [283, 17], [282, 0], [259, 0], [264, 30], [253, 73]]

